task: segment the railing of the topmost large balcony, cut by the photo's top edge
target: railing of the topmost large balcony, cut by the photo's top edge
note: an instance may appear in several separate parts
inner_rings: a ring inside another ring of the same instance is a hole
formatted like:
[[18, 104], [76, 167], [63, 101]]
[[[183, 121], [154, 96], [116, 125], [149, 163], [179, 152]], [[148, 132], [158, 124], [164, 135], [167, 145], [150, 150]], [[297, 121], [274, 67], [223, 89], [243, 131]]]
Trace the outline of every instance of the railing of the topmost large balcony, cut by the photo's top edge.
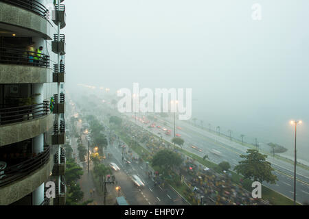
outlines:
[[10, 5], [15, 5], [16, 7], [23, 8], [25, 10], [30, 10], [43, 18], [46, 18], [48, 13], [47, 8], [36, 0], [0, 0]]

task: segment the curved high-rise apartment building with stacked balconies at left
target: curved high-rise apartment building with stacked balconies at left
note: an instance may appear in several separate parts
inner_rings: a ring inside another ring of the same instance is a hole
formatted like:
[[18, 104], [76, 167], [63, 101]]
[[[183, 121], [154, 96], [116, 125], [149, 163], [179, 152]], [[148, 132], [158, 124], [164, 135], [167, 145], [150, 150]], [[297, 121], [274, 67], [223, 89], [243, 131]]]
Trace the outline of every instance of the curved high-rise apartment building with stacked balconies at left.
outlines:
[[65, 205], [63, 1], [0, 0], [0, 205]]

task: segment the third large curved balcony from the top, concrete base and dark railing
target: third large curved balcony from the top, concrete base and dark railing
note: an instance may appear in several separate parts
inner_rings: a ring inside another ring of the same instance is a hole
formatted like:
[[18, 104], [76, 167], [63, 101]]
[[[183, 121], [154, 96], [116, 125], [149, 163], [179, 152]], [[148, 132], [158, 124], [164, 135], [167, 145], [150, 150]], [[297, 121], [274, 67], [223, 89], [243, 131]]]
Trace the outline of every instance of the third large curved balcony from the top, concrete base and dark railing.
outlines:
[[0, 109], [0, 146], [34, 138], [52, 127], [48, 102]]

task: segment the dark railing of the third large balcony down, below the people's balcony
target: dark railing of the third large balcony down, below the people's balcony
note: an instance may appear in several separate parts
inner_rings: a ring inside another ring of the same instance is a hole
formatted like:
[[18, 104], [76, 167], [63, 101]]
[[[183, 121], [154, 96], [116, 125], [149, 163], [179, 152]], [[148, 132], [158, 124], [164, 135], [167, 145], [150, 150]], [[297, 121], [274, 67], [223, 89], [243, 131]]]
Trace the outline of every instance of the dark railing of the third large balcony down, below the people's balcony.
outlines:
[[0, 125], [20, 123], [46, 116], [49, 113], [48, 101], [36, 105], [0, 109]]

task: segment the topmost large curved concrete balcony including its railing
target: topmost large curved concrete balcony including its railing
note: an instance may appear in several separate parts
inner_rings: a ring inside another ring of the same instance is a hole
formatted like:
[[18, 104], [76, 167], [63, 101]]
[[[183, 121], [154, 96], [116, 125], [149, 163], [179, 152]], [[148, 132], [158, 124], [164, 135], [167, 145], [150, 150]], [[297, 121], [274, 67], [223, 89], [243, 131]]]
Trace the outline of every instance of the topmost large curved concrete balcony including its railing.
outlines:
[[[17, 35], [32, 31], [41, 37], [52, 40], [51, 27], [47, 18], [47, 8], [36, 0], [0, 0], [0, 27], [14, 30]], [[14, 16], [12, 16], [14, 14]]]

